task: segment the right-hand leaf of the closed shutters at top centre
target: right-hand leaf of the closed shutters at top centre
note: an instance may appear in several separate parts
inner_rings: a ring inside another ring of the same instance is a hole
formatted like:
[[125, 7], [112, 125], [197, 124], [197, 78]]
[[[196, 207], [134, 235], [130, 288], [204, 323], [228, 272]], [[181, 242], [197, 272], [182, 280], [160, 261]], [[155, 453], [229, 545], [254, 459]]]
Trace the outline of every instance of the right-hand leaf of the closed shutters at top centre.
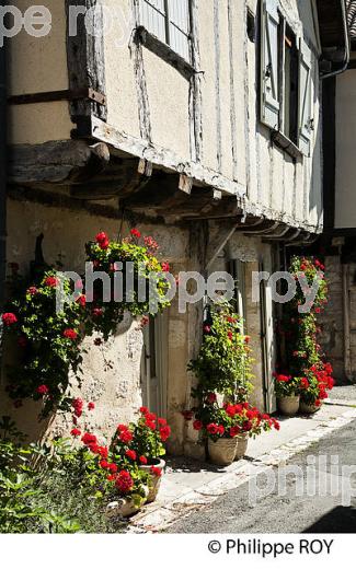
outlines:
[[169, 45], [187, 61], [190, 54], [190, 2], [188, 0], [168, 0]]

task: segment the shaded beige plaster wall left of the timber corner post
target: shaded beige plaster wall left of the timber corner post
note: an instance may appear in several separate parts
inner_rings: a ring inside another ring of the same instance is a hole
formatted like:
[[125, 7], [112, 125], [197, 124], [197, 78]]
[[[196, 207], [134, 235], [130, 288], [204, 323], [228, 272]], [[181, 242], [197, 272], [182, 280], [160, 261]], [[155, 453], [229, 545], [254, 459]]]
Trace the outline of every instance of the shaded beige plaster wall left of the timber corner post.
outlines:
[[[34, 3], [15, 0], [13, 5], [24, 14]], [[49, 33], [33, 37], [23, 28], [8, 42], [9, 96], [68, 89], [65, 1], [44, 0], [41, 5], [50, 12]], [[71, 128], [67, 102], [9, 107], [11, 144], [69, 139]]]

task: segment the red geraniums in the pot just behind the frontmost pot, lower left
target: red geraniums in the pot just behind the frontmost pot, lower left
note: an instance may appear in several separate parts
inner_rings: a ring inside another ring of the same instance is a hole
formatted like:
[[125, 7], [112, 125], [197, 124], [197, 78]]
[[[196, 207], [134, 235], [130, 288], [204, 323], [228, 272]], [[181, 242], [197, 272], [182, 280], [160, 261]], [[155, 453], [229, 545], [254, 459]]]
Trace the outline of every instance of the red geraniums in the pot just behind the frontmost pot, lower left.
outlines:
[[171, 436], [166, 420], [150, 413], [147, 407], [140, 408], [140, 418], [128, 427], [119, 425], [113, 440], [114, 452], [136, 463], [139, 471], [148, 475], [149, 495], [147, 502], [157, 499], [165, 462], [164, 443]]

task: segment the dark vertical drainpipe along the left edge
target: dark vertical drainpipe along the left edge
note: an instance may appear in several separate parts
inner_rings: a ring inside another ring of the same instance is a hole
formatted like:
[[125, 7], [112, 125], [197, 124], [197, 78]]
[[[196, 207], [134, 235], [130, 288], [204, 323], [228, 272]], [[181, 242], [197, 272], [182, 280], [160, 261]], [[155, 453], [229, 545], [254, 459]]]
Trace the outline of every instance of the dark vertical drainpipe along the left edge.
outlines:
[[[0, 47], [0, 312], [4, 302], [7, 270], [7, 56]], [[0, 323], [0, 355], [2, 329]]]

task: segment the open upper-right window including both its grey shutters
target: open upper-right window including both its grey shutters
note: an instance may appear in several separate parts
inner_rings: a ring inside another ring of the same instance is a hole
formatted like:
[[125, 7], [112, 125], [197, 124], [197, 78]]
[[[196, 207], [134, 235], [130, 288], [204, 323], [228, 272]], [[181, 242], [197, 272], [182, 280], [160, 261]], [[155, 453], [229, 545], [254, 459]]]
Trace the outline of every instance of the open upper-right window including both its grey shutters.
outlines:
[[[262, 0], [261, 121], [310, 154], [312, 119], [311, 51], [278, 11]], [[286, 147], [287, 148], [287, 147]]]

